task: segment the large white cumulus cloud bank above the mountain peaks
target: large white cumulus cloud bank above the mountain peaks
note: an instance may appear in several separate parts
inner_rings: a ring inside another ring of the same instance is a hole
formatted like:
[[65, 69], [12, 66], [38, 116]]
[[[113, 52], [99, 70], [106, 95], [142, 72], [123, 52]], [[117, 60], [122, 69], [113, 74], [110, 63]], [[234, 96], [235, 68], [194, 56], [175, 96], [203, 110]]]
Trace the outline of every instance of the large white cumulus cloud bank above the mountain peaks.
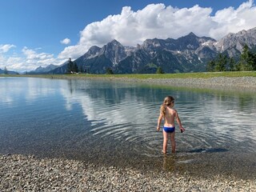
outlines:
[[75, 46], [68, 46], [59, 58], [77, 58], [90, 46], [103, 46], [113, 39], [125, 46], [136, 46], [146, 38], [179, 38], [190, 32], [219, 40], [224, 35], [255, 27], [254, 1], [243, 2], [237, 9], [230, 6], [212, 15], [211, 7], [195, 5], [190, 8], [174, 8], [162, 3], [150, 4], [133, 11], [122, 8], [121, 14], [110, 15], [100, 22], [92, 22], [80, 32]]

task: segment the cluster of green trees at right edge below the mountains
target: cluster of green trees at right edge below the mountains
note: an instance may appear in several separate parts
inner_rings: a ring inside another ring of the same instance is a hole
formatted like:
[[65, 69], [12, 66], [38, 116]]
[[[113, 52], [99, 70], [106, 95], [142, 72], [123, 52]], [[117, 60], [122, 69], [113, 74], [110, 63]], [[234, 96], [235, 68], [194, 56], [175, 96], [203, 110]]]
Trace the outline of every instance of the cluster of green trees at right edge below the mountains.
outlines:
[[256, 54], [245, 45], [238, 59], [230, 58], [226, 54], [218, 54], [217, 58], [207, 63], [206, 70], [209, 72], [256, 70]]

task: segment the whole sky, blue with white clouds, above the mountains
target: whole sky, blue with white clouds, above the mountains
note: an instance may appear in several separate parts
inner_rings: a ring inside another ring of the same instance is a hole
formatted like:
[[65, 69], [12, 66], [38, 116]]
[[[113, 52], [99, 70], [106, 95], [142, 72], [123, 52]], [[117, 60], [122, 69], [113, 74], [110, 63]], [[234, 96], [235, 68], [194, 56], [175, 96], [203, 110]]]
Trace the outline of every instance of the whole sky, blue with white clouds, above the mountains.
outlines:
[[117, 39], [220, 39], [256, 26], [253, 0], [0, 0], [0, 69], [61, 65]]

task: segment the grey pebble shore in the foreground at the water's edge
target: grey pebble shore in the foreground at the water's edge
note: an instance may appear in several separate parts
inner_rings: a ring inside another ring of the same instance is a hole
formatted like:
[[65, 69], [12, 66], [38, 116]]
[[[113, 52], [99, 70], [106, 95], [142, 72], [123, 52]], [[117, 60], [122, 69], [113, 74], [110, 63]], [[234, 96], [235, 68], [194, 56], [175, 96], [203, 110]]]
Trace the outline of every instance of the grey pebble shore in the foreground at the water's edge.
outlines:
[[256, 191], [256, 181], [0, 154], [0, 191]]

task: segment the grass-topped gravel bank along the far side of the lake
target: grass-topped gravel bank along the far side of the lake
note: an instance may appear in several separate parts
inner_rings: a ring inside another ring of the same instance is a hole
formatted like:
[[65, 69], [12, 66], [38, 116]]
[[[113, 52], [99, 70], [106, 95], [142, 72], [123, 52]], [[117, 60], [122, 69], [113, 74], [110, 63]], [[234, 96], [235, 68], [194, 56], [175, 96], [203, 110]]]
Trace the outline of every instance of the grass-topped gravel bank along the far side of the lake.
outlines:
[[191, 74], [38, 74], [0, 75], [0, 77], [90, 79], [112, 82], [138, 82], [191, 89], [256, 91], [256, 72]]

